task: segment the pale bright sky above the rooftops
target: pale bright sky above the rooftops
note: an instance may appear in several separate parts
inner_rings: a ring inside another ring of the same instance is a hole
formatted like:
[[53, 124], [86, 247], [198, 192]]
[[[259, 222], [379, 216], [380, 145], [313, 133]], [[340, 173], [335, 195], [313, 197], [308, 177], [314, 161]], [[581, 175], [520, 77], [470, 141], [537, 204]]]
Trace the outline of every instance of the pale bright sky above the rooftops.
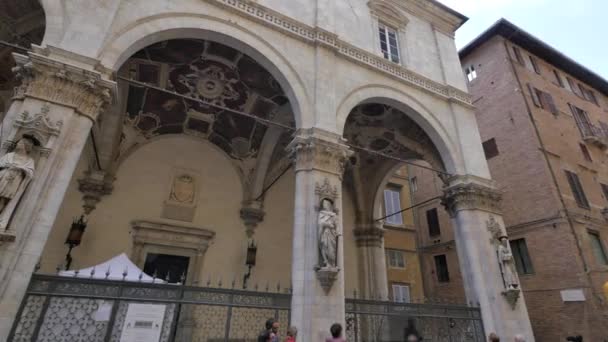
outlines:
[[439, 0], [469, 17], [462, 48], [500, 18], [608, 80], [608, 0]]

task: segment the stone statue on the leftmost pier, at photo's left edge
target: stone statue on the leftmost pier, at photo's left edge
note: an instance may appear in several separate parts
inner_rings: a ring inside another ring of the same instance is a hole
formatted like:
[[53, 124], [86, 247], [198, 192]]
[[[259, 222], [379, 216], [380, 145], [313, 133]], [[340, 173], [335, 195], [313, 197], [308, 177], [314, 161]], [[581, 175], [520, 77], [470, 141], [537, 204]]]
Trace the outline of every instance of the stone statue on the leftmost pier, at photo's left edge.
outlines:
[[24, 136], [12, 152], [0, 158], [0, 228], [6, 229], [26, 187], [34, 178], [30, 156], [35, 140]]

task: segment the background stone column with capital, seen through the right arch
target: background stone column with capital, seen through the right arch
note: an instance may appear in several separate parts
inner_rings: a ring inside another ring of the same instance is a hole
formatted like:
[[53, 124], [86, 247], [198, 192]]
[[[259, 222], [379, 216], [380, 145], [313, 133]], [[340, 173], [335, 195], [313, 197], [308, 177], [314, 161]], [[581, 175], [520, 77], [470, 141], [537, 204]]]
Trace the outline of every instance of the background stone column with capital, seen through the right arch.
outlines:
[[358, 225], [355, 228], [355, 239], [362, 259], [361, 298], [388, 300], [383, 222]]

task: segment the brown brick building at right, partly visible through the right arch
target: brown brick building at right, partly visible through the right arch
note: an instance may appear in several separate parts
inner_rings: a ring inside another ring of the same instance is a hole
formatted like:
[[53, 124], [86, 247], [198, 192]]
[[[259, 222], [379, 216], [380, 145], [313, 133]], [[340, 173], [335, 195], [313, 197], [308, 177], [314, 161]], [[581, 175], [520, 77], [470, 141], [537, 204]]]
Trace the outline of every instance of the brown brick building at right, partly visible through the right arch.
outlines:
[[[536, 341], [607, 341], [608, 81], [504, 19], [460, 58]], [[438, 193], [411, 175], [415, 203]], [[447, 213], [436, 200], [416, 216], [426, 292], [461, 296]]]

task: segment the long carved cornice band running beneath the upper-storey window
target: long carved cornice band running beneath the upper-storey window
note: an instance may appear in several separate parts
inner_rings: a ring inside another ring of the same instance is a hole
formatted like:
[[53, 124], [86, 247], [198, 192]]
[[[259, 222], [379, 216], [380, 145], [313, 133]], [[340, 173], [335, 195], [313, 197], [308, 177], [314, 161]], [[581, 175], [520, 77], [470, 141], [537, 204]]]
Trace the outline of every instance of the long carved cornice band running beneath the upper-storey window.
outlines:
[[[304, 24], [265, 6], [248, 0], [205, 0], [224, 7], [245, 18], [272, 27], [311, 45], [322, 45], [336, 54], [378, 72], [390, 75], [409, 86], [427, 91], [467, 107], [473, 106], [471, 96], [460, 89], [428, 79], [399, 64], [388, 61], [373, 52], [358, 48], [340, 39], [336, 34]], [[425, 0], [426, 1], [426, 0]]]

